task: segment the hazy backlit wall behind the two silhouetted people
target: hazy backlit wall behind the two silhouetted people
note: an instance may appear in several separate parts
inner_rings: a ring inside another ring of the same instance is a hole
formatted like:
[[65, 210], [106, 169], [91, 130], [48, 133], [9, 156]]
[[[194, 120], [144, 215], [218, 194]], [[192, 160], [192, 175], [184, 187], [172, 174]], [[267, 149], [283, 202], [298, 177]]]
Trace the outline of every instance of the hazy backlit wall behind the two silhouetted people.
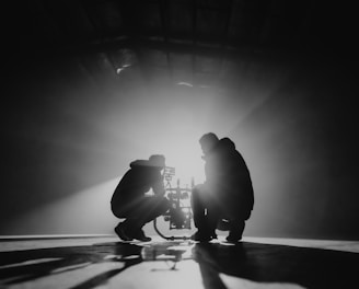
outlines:
[[176, 165], [180, 155], [190, 176], [202, 165], [198, 138], [215, 131], [252, 173], [246, 235], [358, 240], [354, 54], [346, 35], [333, 46], [326, 33], [300, 51], [215, 55], [220, 72], [202, 81], [178, 70], [190, 85], [143, 66], [116, 74], [101, 51], [51, 53], [38, 35], [10, 33], [0, 234], [112, 233], [108, 201], [130, 161], [159, 152]]

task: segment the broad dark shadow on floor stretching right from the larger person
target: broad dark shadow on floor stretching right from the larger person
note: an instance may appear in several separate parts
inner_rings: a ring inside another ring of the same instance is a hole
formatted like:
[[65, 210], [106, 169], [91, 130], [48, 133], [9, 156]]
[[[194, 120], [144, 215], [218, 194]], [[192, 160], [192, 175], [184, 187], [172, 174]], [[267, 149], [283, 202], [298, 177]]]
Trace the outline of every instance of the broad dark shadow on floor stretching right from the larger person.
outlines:
[[359, 280], [357, 253], [243, 242], [232, 246], [197, 244], [193, 257], [207, 289], [225, 288], [220, 273], [305, 288], [350, 288]]

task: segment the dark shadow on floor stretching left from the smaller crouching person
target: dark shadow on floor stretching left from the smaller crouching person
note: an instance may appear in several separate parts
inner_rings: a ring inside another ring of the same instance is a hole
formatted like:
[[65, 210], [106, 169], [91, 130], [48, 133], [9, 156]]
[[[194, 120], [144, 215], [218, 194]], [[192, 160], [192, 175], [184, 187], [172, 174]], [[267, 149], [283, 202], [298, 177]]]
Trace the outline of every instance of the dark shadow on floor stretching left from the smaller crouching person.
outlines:
[[[130, 243], [119, 243], [119, 245], [107, 243], [0, 252], [0, 286], [22, 284], [45, 276], [78, 270], [93, 264], [114, 262], [120, 257], [124, 266], [116, 271], [107, 271], [106, 276], [109, 278], [142, 262], [141, 250], [141, 246]], [[136, 257], [127, 258], [128, 256]], [[97, 280], [97, 282], [101, 281]]]

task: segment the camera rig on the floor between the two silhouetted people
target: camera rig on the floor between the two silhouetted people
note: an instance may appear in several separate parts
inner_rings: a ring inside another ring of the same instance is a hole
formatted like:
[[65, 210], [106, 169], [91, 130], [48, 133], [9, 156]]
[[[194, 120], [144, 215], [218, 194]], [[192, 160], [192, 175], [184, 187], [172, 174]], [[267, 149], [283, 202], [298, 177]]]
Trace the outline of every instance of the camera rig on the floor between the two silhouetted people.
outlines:
[[[177, 180], [177, 186], [172, 187], [171, 181], [175, 175], [175, 167], [165, 166], [163, 172], [163, 177], [165, 181], [165, 197], [170, 201], [170, 209], [163, 215], [164, 221], [169, 222], [170, 230], [182, 230], [182, 229], [190, 229], [190, 222], [193, 219], [193, 212], [190, 208], [190, 194], [192, 189], [195, 186], [194, 178], [192, 178], [190, 188], [181, 187], [180, 180]], [[157, 219], [153, 220], [153, 227], [155, 232], [166, 239], [166, 240], [175, 240], [189, 239], [188, 236], [166, 236], [160, 232], [157, 226]]]

